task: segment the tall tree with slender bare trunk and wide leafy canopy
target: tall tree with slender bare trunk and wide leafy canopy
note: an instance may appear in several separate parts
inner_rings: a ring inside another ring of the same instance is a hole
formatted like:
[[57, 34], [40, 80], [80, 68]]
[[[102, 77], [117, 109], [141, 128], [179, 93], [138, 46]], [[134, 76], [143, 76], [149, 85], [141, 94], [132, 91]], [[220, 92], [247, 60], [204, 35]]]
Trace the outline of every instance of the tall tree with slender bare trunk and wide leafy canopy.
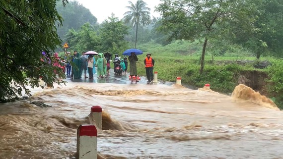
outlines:
[[233, 36], [236, 26], [253, 30], [254, 12], [259, 0], [161, 0], [156, 8], [162, 13], [159, 31], [169, 35], [169, 40], [194, 41], [204, 39], [200, 73], [208, 41]]

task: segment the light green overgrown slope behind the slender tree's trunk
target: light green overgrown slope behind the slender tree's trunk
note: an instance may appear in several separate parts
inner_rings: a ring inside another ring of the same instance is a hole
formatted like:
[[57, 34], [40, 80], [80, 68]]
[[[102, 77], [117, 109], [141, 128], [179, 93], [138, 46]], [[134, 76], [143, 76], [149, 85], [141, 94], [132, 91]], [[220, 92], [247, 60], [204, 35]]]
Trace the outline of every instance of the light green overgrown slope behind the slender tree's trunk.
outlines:
[[[169, 57], [176, 57], [182, 56], [182, 58], [190, 58], [196, 60], [196, 63], [199, 63], [199, 57], [202, 54], [202, 44], [198, 41], [189, 42], [184, 40], [176, 40], [171, 44], [166, 46], [162, 46], [161, 44], [157, 44], [154, 42], [149, 42], [145, 44], [141, 44], [139, 46], [143, 52], [151, 53], [152, 55], [162, 55], [162, 56], [169, 56]], [[212, 45], [209, 46], [209, 50], [207, 52], [208, 55], [212, 55], [212, 52], [217, 51], [215, 53], [214, 59], [221, 59], [221, 60], [255, 60], [255, 56], [253, 53], [243, 49], [237, 45], [225, 45], [221, 47], [213, 47]], [[265, 59], [265, 58], [263, 58]]]

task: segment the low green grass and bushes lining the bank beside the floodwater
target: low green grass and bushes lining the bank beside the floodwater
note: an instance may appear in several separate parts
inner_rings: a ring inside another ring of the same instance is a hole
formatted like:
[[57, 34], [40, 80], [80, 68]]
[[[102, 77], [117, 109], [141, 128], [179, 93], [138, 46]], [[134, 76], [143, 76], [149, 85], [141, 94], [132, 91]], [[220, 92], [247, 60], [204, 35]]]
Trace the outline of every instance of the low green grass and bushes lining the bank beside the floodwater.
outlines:
[[[143, 59], [141, 59], [143, 61]], [[139, 62], [139, 75], [145, 75], [143, 63]], [[182, 83], [196, 87], [211, 84], [211, 89], [222, 93], [231, 93], [237, 85], [237, 77], [243, 70], [251, 69], [249, 66], [238, 64], [212, 65], [206, 64], [204, 73], [199, 73], [200, 65], [194, 59], [180, 57], [155, 57], [154, 71], [158, 78], [165, 81], [176, 81], [182, 77]]]

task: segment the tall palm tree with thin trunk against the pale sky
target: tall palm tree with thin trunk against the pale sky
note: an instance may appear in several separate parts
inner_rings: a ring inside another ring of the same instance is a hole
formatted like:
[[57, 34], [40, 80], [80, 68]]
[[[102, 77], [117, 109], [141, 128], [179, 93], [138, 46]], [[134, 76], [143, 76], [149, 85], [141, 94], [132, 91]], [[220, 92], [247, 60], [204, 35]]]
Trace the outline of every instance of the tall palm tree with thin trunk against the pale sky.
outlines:
[[147, 4], [143, 0], [138, 0], [136, 4], [129, 1], [129, 4], [130, 6], [126, 6], [129, 11], [124, 13], [124, 19], [125, 23], [131, 23], [134, 27], [136, 26], [135, 48], [137, 49], [138, 26], [150, 23], [150, 8], [146, 7]]

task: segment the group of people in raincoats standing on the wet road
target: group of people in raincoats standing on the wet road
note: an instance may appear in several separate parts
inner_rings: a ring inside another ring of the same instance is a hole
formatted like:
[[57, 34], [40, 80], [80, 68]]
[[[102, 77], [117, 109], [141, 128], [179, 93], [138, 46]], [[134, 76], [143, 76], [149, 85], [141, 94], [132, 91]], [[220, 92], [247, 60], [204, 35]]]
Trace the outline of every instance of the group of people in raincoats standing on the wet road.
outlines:
[[[115, 54], [115, 60], [117, 58], [119, 58], [118, 54]], [[133, 82], [133, 76], [137, 77], [138, 75], [136, 63], [138, 61], [138, 56], [136, 55], [136, 53], [131, 53], [128, 58], [130, 63], [130, 76]], [[125, 57], [120, 61], [120, 65], [123, 69], [123, 74], [127, 74], [128, 58]], [[97, 78], [104, 78], [106, 75], [109, 74], [109, 70], [111, 69], [110, 57], [107, 56], [107, 58], [105, 58], [103, 53], [98, 53], [98, 58], [96, 61], [92, 54], [86, 55], [85, 52], [82, 52], [82, 55], [80, 55], [79, 53], [77, 53], [77, 51], [74, 51], [73, 55], [71, 56], [71, 53], [67, 52], [65, 60], [67, 75], [71, 75], [71, 78], [74, 79], [81, 79], [83, 71], [84, 78], [93, 79], [93, 75], [96, 73], [95, 66], [97, 67]], [[71, 66], [71, 61], [72, 63], [74, 63], [73, 66]], [[154, 62], [155, 61], [151, 57], [151, 54], [147, 53], [144, 59], [147, 82], [153, 81]], [[86, 71], [88, 71], [89, 77], [86, 76]], [[136, 78], [136, 82], [138, 82], [138, 78]]]

